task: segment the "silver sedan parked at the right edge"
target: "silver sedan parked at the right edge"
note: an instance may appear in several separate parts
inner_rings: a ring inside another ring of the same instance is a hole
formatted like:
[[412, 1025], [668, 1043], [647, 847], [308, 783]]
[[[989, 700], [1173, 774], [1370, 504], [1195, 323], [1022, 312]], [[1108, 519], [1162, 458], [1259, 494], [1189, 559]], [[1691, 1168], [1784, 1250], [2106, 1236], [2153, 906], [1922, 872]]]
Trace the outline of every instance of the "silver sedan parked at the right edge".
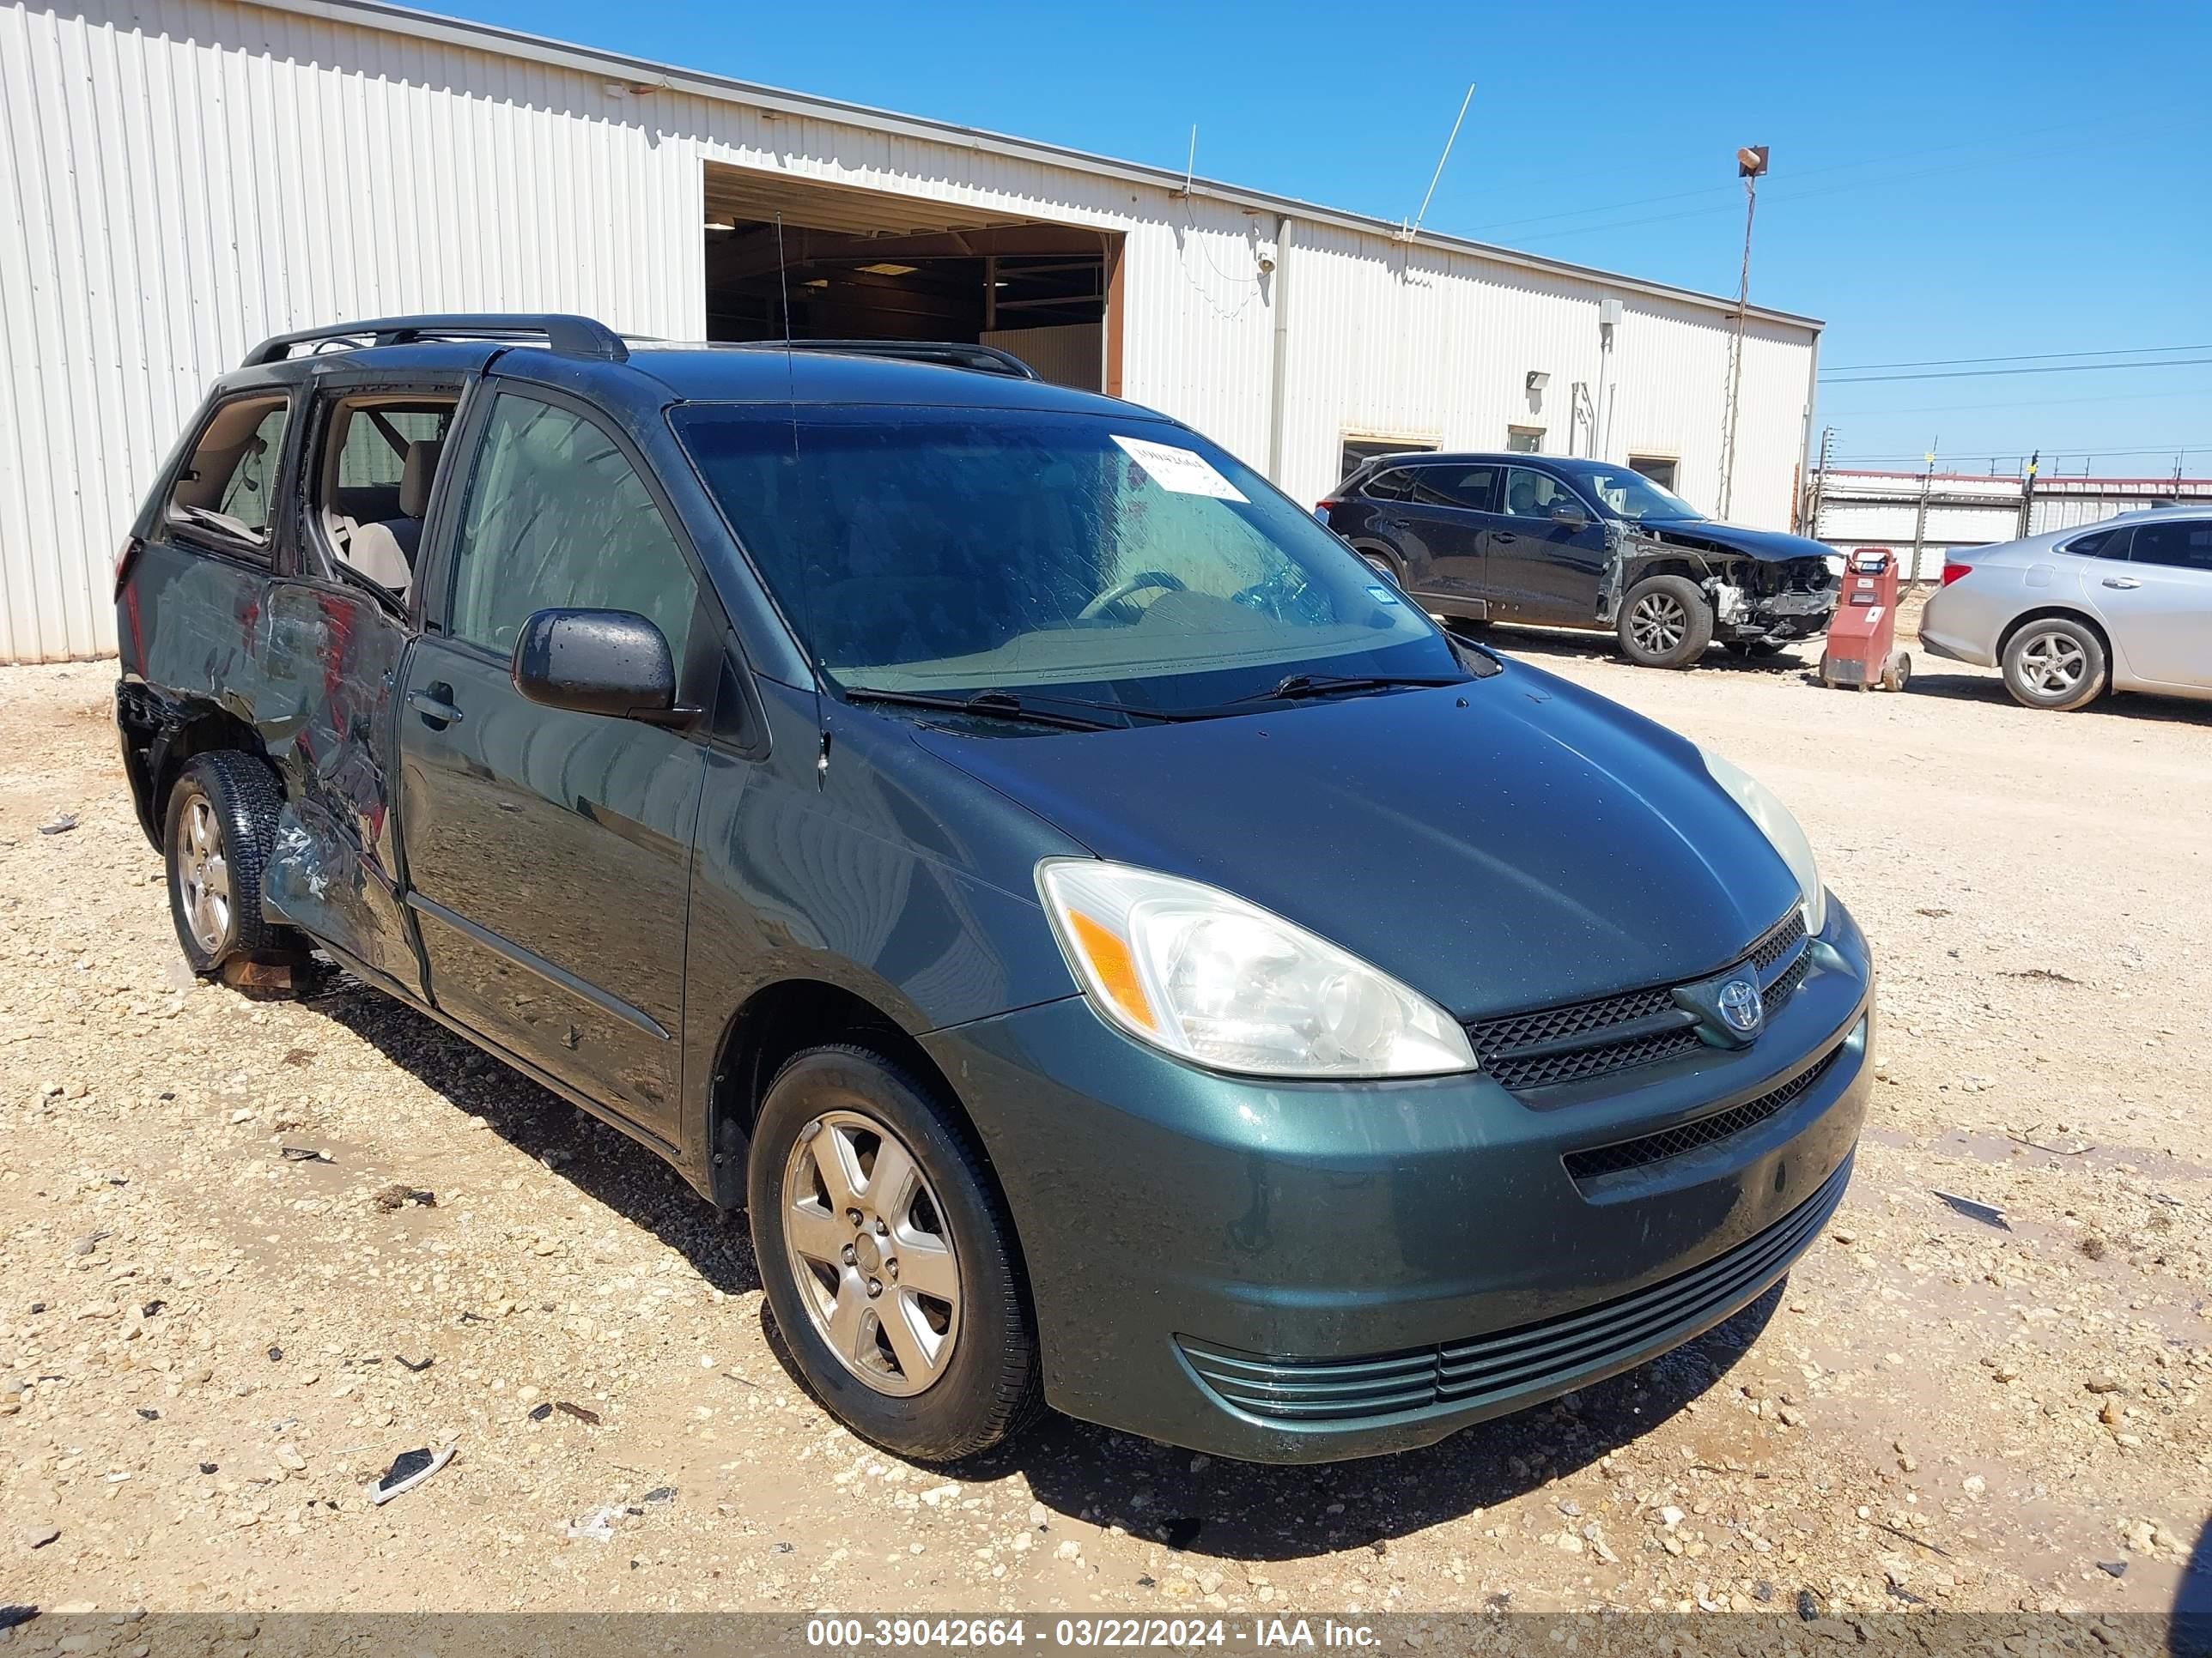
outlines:
[[2212, 699], [2212, 513], [2124, 513], [1951, 553], [1920, 643], [2002, 668], [2028, 707], [2108, 690]]

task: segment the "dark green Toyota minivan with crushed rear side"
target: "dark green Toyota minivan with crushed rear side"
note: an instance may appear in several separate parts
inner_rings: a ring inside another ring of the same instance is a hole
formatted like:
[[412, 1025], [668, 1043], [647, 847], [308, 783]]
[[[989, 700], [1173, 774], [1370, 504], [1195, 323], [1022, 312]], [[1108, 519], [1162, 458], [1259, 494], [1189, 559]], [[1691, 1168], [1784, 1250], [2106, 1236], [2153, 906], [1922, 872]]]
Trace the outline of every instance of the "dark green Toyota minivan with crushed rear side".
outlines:
[[117, 606], [192, 966], [319, 951], [745, 1207], [909, 1457], [1427, 1444], [1851, 1172], [1874, 968], [1774, 796], [991, 351], [276, 338]]

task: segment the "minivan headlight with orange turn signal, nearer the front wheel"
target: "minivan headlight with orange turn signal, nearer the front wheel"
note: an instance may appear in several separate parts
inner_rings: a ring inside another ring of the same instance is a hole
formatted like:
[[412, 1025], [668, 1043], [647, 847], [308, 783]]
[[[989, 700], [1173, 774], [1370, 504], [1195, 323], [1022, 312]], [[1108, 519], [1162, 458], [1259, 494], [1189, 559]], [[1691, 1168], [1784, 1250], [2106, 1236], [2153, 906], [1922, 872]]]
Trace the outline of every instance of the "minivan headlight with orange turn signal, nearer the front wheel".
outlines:
[[1314, 1079], [1475, 1068], [1467, 1032], [1433, 1001], [1219, 886], [1046, 858], [1037, 893], [1091, 1006], [1179, 1059]]

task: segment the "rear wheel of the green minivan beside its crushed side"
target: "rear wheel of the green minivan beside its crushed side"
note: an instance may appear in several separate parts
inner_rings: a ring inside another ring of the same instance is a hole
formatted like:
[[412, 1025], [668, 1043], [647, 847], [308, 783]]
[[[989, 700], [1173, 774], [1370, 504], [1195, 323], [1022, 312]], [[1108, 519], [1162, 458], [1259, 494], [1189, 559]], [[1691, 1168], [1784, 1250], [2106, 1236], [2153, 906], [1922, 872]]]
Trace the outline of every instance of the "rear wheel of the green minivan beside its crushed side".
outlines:
[[276, 844], [283, 789], [237, 749], [195, 754], [168, 794], [168, 913], [192, 973], [232, 957], [294, 953], [296, 935], [261, 915], [261, 871]]

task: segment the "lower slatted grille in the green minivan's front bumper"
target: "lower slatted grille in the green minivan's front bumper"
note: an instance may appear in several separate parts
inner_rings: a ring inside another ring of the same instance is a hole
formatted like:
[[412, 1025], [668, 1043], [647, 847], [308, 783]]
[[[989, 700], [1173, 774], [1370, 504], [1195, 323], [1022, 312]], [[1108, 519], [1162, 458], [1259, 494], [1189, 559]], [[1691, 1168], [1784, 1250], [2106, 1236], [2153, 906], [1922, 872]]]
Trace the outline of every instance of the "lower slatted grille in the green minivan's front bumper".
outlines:
[[1347, 1360], [1239, 1353], [1183, 1335], [1177, 1344], [1223, 1402], [1272, 1421], [1531, 1404], [1661, 1353], [1756, 1300], [1805, 1253], [1849, 1178], [1845, 1158], [1805, 1203], [1734, 1249], [1615, 1300], [1509, 1331]]

